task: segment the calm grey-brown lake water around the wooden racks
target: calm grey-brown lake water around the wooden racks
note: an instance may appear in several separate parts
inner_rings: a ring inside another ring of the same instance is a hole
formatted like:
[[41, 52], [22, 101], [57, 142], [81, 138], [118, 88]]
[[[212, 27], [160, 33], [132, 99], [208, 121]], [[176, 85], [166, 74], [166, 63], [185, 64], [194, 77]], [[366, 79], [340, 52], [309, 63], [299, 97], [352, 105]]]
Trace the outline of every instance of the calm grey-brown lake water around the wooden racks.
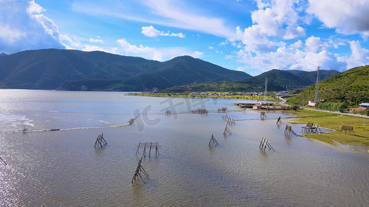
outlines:
[[[0, 90], [0, 206], [368, 206], [369, 153], [286, 137], [276, 118], [287, 113], [228, 112], [244, 119], [228, 137], [220, 113], [163, 115], [170, 104], [237, 110], [238, 101]], [[98, 128], [139, 113], [134, 126]], [[108, 144], [95, 149], [102, 132]], [[219, 146], [209, 148], [212, 134]], [[276, 152], [259, 149], [262, 137]], [[143, 159], [150, 179], [132, 185], [138, 143], [151, 141], [160, 155]]]

